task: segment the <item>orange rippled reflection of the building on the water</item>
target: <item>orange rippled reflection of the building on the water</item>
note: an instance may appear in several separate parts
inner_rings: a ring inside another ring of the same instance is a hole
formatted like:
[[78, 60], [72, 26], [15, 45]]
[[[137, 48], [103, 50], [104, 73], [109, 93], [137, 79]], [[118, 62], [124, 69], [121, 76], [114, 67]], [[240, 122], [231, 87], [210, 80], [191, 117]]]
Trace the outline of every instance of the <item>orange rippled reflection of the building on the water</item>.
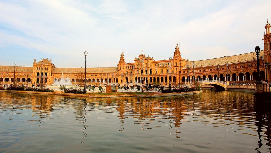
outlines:
[[[206, 96], [209, 94], [208, 96]], [[212, 96], [210, 96], [212, 95]], [[216, 95], [216, 96], [213, 96]], [[181, 125], [197, 122], [212, 127], [229, 127], [242, 130], [247, 135], [258, 134], [257, 151], [263, 146], [271, 146], [271, 113], [269, 106], [258, 106], [252, 94], [238, 92], [211, 92], [190, 96], [161, 98], [77, 98], [64, 96], [12, 94], [7, 93], [5, 105], [12, 109], [12, 116], [17, 110], [31, 109], [32, 117], [38, 117], [40, 125], [56, 113], [55, 108], [71, 107], [74, 118], [82, 123], [83, 138], [87, 137], [88, 126], [93, 124], [93, 113], [107, 113], [120, 121], [119, 131], [129, 130], [126, 124], [134, 124], [139, 129], [154, 127], [175, 128], [175, 137], [180, 138]], [[66, 111], [66, 110], [65, 110]], [[97, 117], [97, 116], [94, 116]], [[31, 119], [30, 119], [31, 120]], [[88, 121], [89, 120], [89, 121]], [[114, 120], [116, 121], [116, 120]], [[87, 124], [88, 123], [88, 124]], [[126, 129], [124, 128], [126, 127]], [[252, 132], [248, 129], [253, 129]], [[183, 132], [184, 133], [184, 132]], [[82, 141], [83, 142], [83, 141]]]

